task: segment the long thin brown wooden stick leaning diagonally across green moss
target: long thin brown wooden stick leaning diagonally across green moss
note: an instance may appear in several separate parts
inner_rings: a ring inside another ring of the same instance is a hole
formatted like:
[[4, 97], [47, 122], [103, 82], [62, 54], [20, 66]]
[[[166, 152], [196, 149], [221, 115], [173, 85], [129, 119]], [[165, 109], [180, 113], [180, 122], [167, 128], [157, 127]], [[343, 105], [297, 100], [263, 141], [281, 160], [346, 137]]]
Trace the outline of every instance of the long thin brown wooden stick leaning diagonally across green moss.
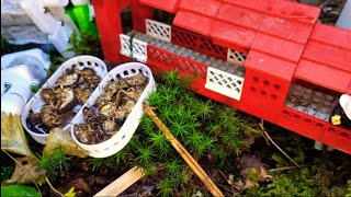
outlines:
[[215, 197], [224, 196], [219, 188], [215, 185], [215, 183], [211, 179], [211, 177], [206, 174], [206, 172], [199, 165], [199, 163], [194, 160], [194, 158], [188, 152], [188, 150], [177, 140], [177, 138], [170, 132], [167, 126], [160, 120], [150, 106], [144, 104], [144, 112], [150, 116], [152, 121], [158, 126], [160, 130], [163, 131], [166, 138], [170, 141], [170, 143], [174, 147], [174, 149], [180, 153], [180, 155], [188, 163], [190, 169], [199, 176], [199, 178], [205, 184], [207, 189]]

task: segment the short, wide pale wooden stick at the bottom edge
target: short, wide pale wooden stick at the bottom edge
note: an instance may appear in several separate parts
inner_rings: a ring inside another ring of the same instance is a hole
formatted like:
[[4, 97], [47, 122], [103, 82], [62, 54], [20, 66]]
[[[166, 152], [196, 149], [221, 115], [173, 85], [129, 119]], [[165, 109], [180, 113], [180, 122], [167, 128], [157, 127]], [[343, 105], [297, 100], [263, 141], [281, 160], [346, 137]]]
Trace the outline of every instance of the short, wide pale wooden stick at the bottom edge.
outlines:
[[144, 170], [135, 166], [95, 194], [94, 197], [117, 196], [143, 176], [145, 176]]

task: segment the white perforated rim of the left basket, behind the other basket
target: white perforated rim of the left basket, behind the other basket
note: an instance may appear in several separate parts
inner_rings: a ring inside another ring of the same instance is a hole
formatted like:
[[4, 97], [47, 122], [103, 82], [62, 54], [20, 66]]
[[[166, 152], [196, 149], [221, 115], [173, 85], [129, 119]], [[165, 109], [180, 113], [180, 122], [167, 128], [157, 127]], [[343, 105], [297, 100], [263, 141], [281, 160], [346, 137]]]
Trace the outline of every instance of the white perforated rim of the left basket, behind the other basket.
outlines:
[[[55, 73], [44, 83], [44, 85], [36, 92], [36, 94], [26, 103], [24, 106], [21, 121], [25, 130], [37, 141], [38, 143], [45, 144], [48, 134], [37, 134], [32, 131], [26, 125], [26, 118], [32, 109], [33, 113], [39, 113], [45, 102], [42, 100], [41, 92], [43, 89], [54, 86], [58, 78], [66, 74], [67, 69], [71, 69], [76, 66], [77, 69], [82, 70], [83, 68], [93, 69], [101, 79], [107, 73], [106, 65], [99, 58], [93, 56], [78, 56], [65, 61]], [[68, 130], [69, 125], [64, 129]]]

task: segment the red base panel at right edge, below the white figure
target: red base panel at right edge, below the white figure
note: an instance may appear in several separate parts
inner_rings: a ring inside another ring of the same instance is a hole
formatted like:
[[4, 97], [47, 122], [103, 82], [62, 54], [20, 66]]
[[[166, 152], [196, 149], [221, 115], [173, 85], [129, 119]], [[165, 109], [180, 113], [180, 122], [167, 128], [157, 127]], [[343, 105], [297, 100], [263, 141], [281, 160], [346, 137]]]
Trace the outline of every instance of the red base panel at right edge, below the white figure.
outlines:
[[340, 126], [329, 124], [320, 138], [320, 142], [351, 154], [351, 130]]

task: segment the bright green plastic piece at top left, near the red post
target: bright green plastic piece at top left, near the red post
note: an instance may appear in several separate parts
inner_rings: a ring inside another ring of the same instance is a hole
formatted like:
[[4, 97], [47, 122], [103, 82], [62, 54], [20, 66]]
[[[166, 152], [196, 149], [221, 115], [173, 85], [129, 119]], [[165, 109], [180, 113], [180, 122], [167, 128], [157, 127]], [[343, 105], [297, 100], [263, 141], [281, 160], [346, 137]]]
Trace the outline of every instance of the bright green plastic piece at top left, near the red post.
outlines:
[[66, 9], [66, 14], [73, 20], [82, 33], [88, 33], [94, 38], [99, 37], [97, 24], [93, 21], [90, 21], [90, 10], [88, 3], [77, 5], [71, 9]]

